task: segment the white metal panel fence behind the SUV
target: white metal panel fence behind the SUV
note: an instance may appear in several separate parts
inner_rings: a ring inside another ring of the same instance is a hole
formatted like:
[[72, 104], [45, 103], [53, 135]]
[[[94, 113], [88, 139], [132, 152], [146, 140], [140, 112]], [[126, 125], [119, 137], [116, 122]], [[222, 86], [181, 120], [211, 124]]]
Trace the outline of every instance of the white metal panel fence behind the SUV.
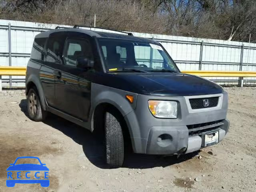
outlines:
[[[54, 29], [56, 26], [56, 24], [0, 20], [0, 66], [26, 66], [36, 34]], [[256, 44], [132, 33], [134, 36], [154, 38], [160, 42], [180, 70], [256, 71]], [[222, 85], [238, 84], [238, 78], [234, 77], [209, 79]], [[12, 86], [24, 86], [23, 76], [12, 76], [11, 78], [2, 76], [2, 81], [3, 86], [10, 86], [10, 82]], [[256, 78], [245, 78], [244, 85], [252, 84], [256, 84]]]

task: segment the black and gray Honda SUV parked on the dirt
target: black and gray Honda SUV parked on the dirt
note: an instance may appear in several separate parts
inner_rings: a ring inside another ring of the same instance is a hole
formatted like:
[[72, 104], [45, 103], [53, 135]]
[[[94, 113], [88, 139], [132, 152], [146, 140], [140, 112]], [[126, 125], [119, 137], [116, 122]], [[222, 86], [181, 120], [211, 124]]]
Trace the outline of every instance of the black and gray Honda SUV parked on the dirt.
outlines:
[[181, 73], [153, 39], [102, 31], [36, 35], [26, 70], [32, 120], [51, 112], [103, 137], [112, 168], [122, 166], [126, 146], [171, 155], [223, 140], [230, 123], [221, 86]]

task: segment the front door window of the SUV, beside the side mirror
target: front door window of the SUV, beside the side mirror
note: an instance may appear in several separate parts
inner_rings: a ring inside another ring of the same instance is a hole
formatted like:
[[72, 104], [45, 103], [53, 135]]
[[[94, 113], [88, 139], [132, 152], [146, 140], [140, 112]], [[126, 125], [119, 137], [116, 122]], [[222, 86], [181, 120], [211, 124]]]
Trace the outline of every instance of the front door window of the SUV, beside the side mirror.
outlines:
[[78, 58], [87, 58], [93, 60], [90, 42], [86, 39], [68, 39], [64, 48], [65, 64], [76, 66]]

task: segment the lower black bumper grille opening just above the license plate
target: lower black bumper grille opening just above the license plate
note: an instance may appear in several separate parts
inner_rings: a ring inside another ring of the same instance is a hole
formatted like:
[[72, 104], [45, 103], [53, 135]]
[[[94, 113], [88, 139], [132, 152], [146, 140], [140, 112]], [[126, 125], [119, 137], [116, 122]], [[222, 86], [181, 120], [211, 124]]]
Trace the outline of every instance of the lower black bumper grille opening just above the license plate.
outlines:
[[222, 120], [194, 124], [194, 125], [187, 125], [188, 135], [189, 136], [202, 135], [205, 132], [219, 130], [220, 126], [222, 125], [224, 125]]

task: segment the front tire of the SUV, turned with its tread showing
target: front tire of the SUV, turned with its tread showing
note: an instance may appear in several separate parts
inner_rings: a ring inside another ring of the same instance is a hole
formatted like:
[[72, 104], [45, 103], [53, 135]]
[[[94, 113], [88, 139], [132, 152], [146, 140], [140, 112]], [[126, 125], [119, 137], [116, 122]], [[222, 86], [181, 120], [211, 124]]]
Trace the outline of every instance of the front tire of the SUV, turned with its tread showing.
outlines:
[[110, 168], [119, 168], [124, 162], [124, 137], [118, 116], [105, 114], [106, 163]]

